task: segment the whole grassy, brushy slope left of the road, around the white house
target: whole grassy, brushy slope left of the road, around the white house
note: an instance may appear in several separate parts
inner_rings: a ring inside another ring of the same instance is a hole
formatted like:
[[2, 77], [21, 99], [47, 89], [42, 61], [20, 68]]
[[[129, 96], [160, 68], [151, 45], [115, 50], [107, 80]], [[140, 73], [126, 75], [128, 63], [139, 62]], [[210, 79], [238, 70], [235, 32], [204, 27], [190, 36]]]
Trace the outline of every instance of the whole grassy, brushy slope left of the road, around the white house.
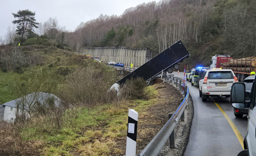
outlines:
[[122, 77], [118, 70], [55, 43], [30, 38], [23, 46], [0, 46], [0, 104], [32, 92], [62, 99], [61, 107], [49, 98], [33, 110], [15, 112], [14, 123], [0, 121], [0, 155], [123, 155], [127, 108], [140, 114], [139, 153], [180, 104], [177, 88], [146, 87], [141, 79], [127, 82], [117, 96], [109, 88]]

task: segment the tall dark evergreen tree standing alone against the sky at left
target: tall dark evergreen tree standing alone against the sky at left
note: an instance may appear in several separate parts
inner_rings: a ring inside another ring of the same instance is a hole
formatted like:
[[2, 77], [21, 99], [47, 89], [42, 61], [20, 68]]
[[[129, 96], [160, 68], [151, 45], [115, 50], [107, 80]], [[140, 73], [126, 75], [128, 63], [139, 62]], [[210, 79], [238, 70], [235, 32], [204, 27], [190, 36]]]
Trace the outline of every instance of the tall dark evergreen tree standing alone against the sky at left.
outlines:
[[28, 30], [33, 31], [33, 27], [38, 28], [38, 24], [35, 19], [36, 12], [30, 10], [19, 10], [17, 13], [12, 13], [14, 18], [17, 20], [12, 21], [14, 24], [17, 24], [17, 34], [21, 35], [23, 38], [24, 34]]

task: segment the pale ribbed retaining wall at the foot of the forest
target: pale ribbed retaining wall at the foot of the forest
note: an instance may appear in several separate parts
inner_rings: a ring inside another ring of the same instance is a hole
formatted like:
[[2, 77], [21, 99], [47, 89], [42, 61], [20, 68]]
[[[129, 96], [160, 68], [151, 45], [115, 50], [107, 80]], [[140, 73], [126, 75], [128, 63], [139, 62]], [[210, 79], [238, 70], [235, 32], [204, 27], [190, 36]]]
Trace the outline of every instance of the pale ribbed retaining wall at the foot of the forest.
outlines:
[[128, 47], [94, 47], [82, 48], [80, 52], [84, 55], [99, 57], [103, 63], [109, 61], [121, 62], [127, 67], [133, 63], [138, 67], [152, 59], [152, 51], [147, 48], [128, 48]]

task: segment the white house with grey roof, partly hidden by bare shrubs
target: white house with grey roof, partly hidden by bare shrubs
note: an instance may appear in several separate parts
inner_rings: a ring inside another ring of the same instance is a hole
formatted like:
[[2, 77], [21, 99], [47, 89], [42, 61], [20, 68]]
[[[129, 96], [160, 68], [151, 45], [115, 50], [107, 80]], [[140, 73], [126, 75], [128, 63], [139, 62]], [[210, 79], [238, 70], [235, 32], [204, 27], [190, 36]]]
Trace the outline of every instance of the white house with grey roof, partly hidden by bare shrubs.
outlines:
[[[37, 104], [45, 104], [46, 100], [50, 97], [54, 98], [54, 105], [59, 107], [60, 106], [60, 98], [53, 95], [53, 94], [49, 94], [49, 93], [43, 93], [43, 92], [34, 92], [31, 94], [26, 95], [25, 97], [20, 97], [18, 99], [6, 102], [2, 105], [2, 107], [4, 107], [4, 115], [3, 115], [3, 120], [4, 121], [8, 121], [8, 122], [14, 122], [15, 118], [16, 118], [16, 110], [17, 110], [17, 103], [18, 102], [22, 102], [22, 101], [26, 101], [23, 102], [25, 103], [25, 108], [22, 107], [22, 105], [19, 105], [19, 113], [21, 113], [22, 111], [24, 111], [23, 109], [25, 109], [25, 111], [29, 110], [28, 105], [37, 103]], [[24, 99], [25, 98], [25, 99]], [[48, 107], [48, 105], [46, 105]], [[1, 105], [0, 105], [0, 120], [1, 120]], [[30, 108], [31, 109], [31, 108]], [[29, 117], [29, 115], [27, 114], [27, 117]]]

